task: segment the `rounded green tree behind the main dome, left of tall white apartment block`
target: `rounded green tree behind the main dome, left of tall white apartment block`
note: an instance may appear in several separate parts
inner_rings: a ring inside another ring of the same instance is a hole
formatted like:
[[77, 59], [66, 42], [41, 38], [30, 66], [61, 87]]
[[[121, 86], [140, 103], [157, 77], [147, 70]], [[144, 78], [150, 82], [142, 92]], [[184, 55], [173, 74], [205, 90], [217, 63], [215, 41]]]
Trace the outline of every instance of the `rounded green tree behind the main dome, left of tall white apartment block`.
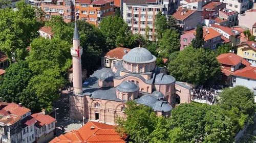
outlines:
[[128, 46], [131, 44], [132, 33], [127, 23], [121, 17], [106, 17], [99, 24], [100, 31], [106, 39], [109, 49], [116, 46]]

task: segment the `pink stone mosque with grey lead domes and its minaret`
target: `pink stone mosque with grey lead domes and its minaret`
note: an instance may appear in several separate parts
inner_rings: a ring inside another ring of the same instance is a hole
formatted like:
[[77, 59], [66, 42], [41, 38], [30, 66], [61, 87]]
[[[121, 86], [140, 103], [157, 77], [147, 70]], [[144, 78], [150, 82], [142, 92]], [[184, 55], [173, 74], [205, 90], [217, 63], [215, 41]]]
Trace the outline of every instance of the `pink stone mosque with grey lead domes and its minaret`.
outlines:
[[190, 88], [166, 75], [165, 68], [156, 66], [156, 56], [143, 47], [131, 49], [112, 68], [98, 69], [83, 84], [81, 54], [75, 23], [71, 48], [74, 92], [69, 97], [72, 119], [115, 124], [118, 118], [125, 118], [130, 100], [169, 117], [176, 104], [190, 102]]

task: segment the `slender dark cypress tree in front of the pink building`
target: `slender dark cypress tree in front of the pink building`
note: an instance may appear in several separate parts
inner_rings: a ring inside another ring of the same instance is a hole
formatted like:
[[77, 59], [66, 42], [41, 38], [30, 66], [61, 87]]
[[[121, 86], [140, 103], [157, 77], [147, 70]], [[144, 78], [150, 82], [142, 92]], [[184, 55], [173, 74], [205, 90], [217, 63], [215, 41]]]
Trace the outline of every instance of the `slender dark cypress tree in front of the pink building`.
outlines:
[[202, 25], [197, 25], [196, 38], [191, 41], [194, 48], [201, 48], [204, 44], [204, 33]]

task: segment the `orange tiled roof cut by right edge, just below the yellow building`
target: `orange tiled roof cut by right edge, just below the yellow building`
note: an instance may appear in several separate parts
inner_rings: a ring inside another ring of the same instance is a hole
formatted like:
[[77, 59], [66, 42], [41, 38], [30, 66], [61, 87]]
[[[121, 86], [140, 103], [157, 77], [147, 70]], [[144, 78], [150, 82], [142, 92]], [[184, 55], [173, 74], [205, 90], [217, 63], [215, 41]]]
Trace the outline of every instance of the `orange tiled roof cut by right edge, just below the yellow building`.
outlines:
[[256, 67], [247, 66], [241, 70], [234, 72], [235, 76], [256, 79]]

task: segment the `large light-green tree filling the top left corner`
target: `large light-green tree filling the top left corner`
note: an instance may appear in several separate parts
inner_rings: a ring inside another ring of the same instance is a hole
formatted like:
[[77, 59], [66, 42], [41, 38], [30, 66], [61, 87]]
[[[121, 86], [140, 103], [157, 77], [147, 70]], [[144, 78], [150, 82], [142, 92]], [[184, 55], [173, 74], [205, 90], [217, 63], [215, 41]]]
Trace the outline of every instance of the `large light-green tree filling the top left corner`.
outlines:
[[0, 10], [0, 50], [15, 61], [25, 59], [30, 42], [39, 36], [40, 26], [34, 8], [25, 2], [17, 3], [17, 8], [17, 11], [10, 8]]

